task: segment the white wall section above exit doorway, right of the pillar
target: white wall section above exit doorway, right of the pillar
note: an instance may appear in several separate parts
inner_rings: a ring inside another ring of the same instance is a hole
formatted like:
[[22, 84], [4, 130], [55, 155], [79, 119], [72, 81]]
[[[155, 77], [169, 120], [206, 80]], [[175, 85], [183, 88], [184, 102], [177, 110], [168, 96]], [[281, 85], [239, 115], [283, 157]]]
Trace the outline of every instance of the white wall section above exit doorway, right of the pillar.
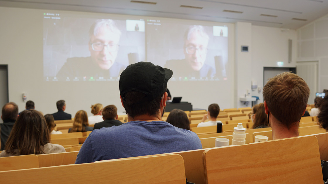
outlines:
[[[288, 40], [292, 40], [292, 62], [288, 63]], [[296, 67], [297, 33], [296, 30], [285, 31], [280, 28], [252, 26], [252, 71], [251, 80], [257, 81], [257, 86], [263, 88], [263, 67], [279, 67], [278, 61], [284, 63], [281, 67]], [[267, 80], [267, 79], [265, 79]], [[250, 82], [251, 84], [251, 82]], [[258, 103], [263, 102], [262, 91], [252, 91], [252, 96], [258, 96]]]

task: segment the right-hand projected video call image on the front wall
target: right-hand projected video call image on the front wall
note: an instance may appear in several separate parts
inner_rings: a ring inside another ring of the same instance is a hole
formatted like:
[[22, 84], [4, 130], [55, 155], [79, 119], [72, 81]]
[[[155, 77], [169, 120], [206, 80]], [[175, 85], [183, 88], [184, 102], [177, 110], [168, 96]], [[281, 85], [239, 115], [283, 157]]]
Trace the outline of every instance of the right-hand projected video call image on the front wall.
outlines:
[[147, 60], [173, 70], [171, 80], [227, 80], [227, 27], [148, 20], [146, 28]]

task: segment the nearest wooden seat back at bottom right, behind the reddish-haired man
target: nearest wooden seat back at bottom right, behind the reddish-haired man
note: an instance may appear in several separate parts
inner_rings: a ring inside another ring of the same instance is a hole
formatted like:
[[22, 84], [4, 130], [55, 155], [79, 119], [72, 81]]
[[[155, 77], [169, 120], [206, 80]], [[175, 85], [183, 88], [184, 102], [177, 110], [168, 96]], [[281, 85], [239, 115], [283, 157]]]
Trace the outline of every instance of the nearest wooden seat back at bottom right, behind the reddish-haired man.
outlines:
[[208, 149], [203, 159], [208, 184], [323, 182], [314, 136]]

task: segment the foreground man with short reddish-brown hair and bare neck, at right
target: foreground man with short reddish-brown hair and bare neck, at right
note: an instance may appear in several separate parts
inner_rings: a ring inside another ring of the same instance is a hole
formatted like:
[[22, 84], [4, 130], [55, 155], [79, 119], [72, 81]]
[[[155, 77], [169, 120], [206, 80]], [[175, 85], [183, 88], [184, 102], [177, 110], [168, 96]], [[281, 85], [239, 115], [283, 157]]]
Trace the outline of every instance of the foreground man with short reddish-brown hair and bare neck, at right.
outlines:
[[296, 74], [285, 72], [269, 79], [263, 88], [264, 108], [273, 139], [297, 137], [310, 89]]

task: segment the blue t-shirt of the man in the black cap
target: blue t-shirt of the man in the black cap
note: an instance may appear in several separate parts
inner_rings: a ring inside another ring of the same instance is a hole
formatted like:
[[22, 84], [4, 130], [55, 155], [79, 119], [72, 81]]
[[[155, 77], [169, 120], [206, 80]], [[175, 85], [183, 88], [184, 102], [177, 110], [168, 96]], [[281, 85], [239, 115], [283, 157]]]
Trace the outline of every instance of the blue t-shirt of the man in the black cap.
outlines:
[[132, 121], [93, 130], [75, 163], [202, 149], [198, 136], [167, 122]]

